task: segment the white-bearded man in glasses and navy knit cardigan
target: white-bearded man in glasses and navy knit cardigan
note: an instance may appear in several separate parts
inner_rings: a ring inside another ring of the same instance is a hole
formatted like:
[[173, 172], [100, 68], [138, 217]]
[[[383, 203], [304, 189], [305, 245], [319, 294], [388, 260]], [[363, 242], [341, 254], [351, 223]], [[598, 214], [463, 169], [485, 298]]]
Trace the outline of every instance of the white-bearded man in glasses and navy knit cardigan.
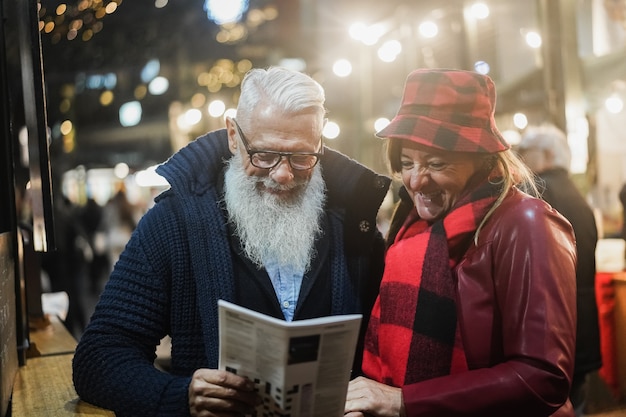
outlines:
[[[158, 168], [171, 188], [140, 221], [76, 350], [83, 400], [118, 416], [250, 413], [250, 381], [216, 369], [218, 299], [284, 320], [368, 314], [389, 179], [326, 148], [324, 117], [313, 79], [255, 69], [236, 118]], [[153, 366], [166, 335], [169, 373]]]

